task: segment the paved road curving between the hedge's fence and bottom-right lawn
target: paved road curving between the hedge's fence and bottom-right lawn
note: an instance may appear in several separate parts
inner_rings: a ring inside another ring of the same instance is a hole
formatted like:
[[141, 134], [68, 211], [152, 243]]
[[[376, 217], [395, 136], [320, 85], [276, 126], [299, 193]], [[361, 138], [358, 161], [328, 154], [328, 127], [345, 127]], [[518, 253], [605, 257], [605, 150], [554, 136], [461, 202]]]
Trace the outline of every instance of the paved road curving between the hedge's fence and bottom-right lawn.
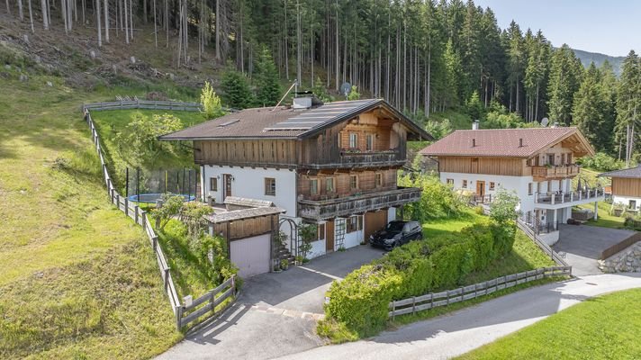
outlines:
[[590, 275], [511, 293], [367, 340], [282, 359], [446, 359], [460, 356], [602, 293], [641, 287], [641, 274]]

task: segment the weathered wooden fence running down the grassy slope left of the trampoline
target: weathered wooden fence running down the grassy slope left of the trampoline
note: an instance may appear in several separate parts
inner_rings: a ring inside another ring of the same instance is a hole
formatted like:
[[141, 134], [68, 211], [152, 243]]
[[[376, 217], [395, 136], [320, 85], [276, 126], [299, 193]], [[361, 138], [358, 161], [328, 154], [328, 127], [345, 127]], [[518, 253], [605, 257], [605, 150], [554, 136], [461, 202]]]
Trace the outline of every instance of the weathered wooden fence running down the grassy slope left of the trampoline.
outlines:
[[[120, 103], [136, 103], [136, 102], [120, 102]], [[98, 131], [95, 129], [95, 123], [91, 118], [91, 112], [89, 112], [89, 109], [91, 108], [91, 106], [94, 106], [94, 105], [96, 104], [95, 103], [83, 104], [83, 113], [85, 114], [85, 120], [89, 125], [89, 128], [91, 129], [91, 137], [94, 141], [95, 150], [98, 153], [98, 157], [100, 158], [100, 165], [103, 167], [104, 184], [107, 188], [109, 199], [118, 209], [124, 212], [127, 216], [131, 217], [131, 219], [134, 220], [134, 222], [136, 222], [143, 229], [145, 229], [145, 233], [149, 238], [149, 243], [151, 244], [151, 247], [154, 250], [156, 261], [158, 262], [158, 269], [160, 270], [160, 276], [162, 277], [162, 280], [163, 280], [165, 293], [167, 293], [167, 298], [169, 299], [171, 308], [174, 311], [174, 315], [176, 315], [176, 328], [177, 329], [183, 328], [189, 323], [194, 322], [194, 320], [197, 320], [198, 318], [202, 317], [207, 312], [213, 311], [212, 315], [215, 315], [215, 310], [217, 305], [219, 305], [221, 302], [223, 302], [225, 299], [229, 298], [230, 296], [233, 296], [232, 299], [236, 298], [236, 289], [235, 289], [236, 283], [235, 283], [234, 277], [232, 276], [229, 280], [219, 285], [217, 288], [212, 289], [202, 297], [196, 299], [194, 302], [192, 302], [191, 305], [185, 306], [181, 304], [180, 299], [178, 298], [178, 293], [176, 292], [176, 285], [174, 284], [174, 280], [171, 277], [171, 269], [167, 265], [167, 258], [165, 257], [165, 254], [163, 253], [162, 248], [158, 245], [158, 235], [156, 234], [156, 231], [154, 231], [153, 227], [151, 226], [151, 223], [149, 222], [148, 212], [140, 210], [140, 207], [136, 202], [130, 202], [126, 196], [122, 196], [120, 193], [118, 193], [118, 191], [116, 190], [113, 184], [112, 177], [109, 175], [109, 171], [107, 170], [107, 164], [104, 161], [104, 153], [103, 153], [103, 148], [101, 146], [100, 137], [98, 135]], [[124, 107], [124, 108], [126, 109], [127, 107]], [[102, 109], [102, 110], [106, 110], [106, 109]], [[230, 287], [230, 289], [227, 289], [220, 296], [216, 297], [216, 294], [221, 293], [221, 291], [223, 289], [226, 289], [227, 287]], [[194, 311], [196, 307], [203, 304], [204, 306]]]

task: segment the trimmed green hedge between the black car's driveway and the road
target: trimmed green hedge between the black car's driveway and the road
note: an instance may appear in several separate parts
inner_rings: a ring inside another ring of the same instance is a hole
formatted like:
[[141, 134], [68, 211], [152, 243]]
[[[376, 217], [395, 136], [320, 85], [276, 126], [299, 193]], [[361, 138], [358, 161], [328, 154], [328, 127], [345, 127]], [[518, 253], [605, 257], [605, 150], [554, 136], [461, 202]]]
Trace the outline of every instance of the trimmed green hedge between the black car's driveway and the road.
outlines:
[[325, 313], [359, 337], [384, 329], [388, 304], [449, 289], [511, 250], [513, 224], [478, 223], [459, 233], [414, 241], [331, 284]]

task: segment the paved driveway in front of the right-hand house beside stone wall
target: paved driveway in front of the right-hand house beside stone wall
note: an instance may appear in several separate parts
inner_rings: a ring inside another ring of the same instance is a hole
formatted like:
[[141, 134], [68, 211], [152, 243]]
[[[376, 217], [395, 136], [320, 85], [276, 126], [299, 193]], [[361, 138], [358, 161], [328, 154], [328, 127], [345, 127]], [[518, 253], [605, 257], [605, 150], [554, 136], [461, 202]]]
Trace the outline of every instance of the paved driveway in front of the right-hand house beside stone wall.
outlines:
[[601, 252], [635, 233], [587, 225], [559, 225], [559, 229], [559, 241], [553, 248], [558, 253], [565, 253], [565, 261], [577, 276], [601, 274], [597, 263]]

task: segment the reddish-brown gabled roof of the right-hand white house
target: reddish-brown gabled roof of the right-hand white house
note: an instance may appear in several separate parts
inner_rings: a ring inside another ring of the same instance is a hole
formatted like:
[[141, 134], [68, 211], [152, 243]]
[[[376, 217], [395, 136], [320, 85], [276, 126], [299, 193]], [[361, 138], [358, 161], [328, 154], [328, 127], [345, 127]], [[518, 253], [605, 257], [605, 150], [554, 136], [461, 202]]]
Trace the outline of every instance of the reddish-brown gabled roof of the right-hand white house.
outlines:
[[564, 140], [572, 144], [578, 156], [594, 154], [588, 140], [576, 128], [456, 130], [423, 148], [420, 154], [434, 157], [532, 157]]

